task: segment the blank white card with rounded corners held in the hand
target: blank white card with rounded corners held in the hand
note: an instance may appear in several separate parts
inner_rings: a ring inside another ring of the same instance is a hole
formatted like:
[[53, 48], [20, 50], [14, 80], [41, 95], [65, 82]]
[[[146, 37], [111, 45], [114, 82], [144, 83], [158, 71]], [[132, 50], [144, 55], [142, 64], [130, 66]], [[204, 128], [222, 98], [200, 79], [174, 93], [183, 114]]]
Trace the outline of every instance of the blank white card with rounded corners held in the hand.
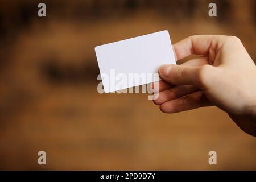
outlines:
[[167, 30], [97, 46], [95, 52], [105, 93], [159, 81], [154, 73], [160, 65], [176, 64]]

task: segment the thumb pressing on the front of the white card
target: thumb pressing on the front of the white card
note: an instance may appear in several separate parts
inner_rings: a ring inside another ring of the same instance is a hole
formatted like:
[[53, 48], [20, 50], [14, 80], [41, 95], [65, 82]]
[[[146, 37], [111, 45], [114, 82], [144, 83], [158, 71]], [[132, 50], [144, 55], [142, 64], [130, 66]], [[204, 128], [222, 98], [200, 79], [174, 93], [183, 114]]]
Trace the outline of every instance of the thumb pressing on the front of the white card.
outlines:
[[201, 67], [189, 67], [184, 65], [164, 64], [159, 68], [160, 77], [174, 85], [195, 85], [203, 89], [203, 73], [204, 68], [210, 65]]

